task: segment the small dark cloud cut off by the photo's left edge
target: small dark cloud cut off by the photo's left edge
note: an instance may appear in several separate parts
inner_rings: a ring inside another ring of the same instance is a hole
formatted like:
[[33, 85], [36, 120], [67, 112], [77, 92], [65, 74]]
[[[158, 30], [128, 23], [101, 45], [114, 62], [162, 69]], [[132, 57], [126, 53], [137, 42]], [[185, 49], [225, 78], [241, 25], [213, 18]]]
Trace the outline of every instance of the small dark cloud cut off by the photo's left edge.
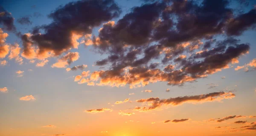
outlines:
[[2, 6], [0, 6], [0, 25], [3, 26], [3, 30], [16, 31], [12, 14], [3, 9]]

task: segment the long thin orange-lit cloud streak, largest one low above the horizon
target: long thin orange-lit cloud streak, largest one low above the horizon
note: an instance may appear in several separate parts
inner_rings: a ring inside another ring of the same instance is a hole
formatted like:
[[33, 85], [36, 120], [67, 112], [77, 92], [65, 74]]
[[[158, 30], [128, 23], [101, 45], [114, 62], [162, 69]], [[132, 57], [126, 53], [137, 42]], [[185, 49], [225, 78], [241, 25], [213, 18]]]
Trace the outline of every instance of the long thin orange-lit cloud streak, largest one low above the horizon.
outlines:
[[234, 98], [236, 95], [231, 92], [215, 92], [209, 93], [205, 95], [193, 95], [193, 96], [183, 96], [183, 97], [176, 97], [176, 98], [168, 98], [168, 99], [160, 99], [160, 98], [147, 98], [147, 99], [140, 99], [136, 100], [136, 102], [150, 102], [149, 107], [135, 107], [134, 110], [138, 110], [140, 112], [155, 110], [162, 106], [177, 106], [184, 103], [204, 103], [204, 102], [211, 102], [211, 101], [221, 101], [223, 99], [230, 99]]

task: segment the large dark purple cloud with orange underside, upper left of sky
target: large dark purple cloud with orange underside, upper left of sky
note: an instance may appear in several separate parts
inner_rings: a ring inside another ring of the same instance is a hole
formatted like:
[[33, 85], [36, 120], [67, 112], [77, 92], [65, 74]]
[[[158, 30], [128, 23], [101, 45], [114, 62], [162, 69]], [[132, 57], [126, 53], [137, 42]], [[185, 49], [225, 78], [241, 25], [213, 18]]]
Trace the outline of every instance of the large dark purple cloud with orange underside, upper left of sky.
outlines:
[[70, 2], [48, 15], [52, 23], [35, 27], [31, 41], [38, 46], [39, 54], [53, 51], [55, 55], [61, 55], [70, 48], [77, 48], [76, 40], [91, 34], [93, 27], [118, 17], [120, 12], [113, 0]]

